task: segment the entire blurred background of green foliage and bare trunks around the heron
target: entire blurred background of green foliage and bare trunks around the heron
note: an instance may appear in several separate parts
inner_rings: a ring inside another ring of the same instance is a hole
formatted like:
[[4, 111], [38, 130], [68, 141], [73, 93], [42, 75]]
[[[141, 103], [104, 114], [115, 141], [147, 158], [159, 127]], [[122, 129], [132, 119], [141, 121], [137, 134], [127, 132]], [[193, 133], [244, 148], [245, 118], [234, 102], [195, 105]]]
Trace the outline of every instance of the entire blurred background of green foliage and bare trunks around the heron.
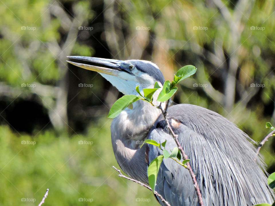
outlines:
[[[107, 114], [121, 94], [99, 74], [68, 66], [68, 55], [152, 60], [169, 80], [195, 65], [175, 103], [216, 111], [256, 143], [270, 132], [265, 123], [275, 124], [274, 1], [0, 4], [0, 205], [22, 204], [24, 197], [36, 204], [47, 187], [45, 205], [88, 204], [81, 197], [94, 205], [158, 205], [111, 167], [117, 163]], [[269, 173], [274, 142], [261, 149]]]

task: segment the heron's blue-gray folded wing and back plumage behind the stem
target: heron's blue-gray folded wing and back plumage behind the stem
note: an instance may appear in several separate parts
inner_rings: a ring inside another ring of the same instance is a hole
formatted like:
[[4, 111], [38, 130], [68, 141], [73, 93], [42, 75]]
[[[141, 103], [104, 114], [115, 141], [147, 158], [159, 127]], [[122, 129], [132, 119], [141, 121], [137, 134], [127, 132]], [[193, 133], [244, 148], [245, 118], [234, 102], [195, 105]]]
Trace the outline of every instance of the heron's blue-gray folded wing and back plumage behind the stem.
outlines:
[[[254, 161], [256, 152], [252, 140], [235, 124], [216, 112], [191, 104], [171, 106], [168, 119], [170, 117], [179, 122], [173, 130], [191, 160], [205, 205], [254, 205], [274, 201], [263, 172], [264, 163], [259, 157]], [[157, 142], [167, 139], [168, 150], [176, 146], [162, 115], [148, 138]], [[151, 162], [162, 151], [148, 146]], [[198, 205], [188, 170], [172, 159], [163, 160], [156, 191], [173, 206]]]

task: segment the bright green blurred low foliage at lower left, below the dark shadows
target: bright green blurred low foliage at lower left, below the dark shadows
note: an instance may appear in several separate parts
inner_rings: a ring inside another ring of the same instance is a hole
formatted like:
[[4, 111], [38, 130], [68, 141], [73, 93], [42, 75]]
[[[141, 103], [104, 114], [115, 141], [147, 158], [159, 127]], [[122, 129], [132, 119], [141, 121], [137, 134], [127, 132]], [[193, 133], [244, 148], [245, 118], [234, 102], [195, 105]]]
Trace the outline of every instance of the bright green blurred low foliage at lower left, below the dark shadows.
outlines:
[[[151, 191], [119, 178], [112, 168], [119, 166], [111, 150], [110, 124], [111, 120], [101, 119], [87, 134], [70, 138], [67, 134], [57, 137], [52, 130], [35, 138], [18, 136], [8, 126], [0, 126], [0, 205], [38, 205], [46, 188], [45, 205], [148, 205], [136, 198], [157, 205]], [[36, 201], [21, 202], [21, 198]], [[79, 202], [79, 198], [93, 201]]]

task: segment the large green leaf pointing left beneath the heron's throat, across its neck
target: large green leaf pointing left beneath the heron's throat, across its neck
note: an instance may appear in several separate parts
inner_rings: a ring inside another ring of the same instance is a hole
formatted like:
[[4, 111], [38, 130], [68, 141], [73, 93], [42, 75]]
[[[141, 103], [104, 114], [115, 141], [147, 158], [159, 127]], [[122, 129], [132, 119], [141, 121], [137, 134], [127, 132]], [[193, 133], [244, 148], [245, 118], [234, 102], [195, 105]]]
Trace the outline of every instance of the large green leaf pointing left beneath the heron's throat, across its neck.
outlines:
[[123, 97], [119, 98], [111, 107], [108, 117], [115, 118], [117, 117], [120, 112], [122, 112], [127, 106], [132, 104], [133, 102], [139, 100], [140, 97], [136, 95], [124, 95]]

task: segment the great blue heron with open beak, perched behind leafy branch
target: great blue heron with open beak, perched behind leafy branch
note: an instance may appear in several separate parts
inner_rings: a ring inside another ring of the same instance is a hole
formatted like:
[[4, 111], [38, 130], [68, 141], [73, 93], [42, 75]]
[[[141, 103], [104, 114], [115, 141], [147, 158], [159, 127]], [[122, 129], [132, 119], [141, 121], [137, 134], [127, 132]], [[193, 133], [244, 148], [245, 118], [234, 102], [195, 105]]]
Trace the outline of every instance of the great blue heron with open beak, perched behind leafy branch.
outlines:
[[[69, 58], [101, 65], [68, 61], [98, 72], [123, 94], [137, 95], [136, 85], [142, 91], [143, 88], [154, 88], [155, 82], [159, 85], [164, 83], [162, 73], [152, 62], [82, 56]], [[155, 105], [159, 104], [156, 102], [158, 93], [154, 94]], [[162, 151], [151, 144], [140, 148], [140, 143], [145, 139], [157, 142], [167, 140], [166, 149], [176, 146], [160, 114], [160, 109], [138, 100], [133, 103], [132, 109], [126, 108], [111, 124], [111, 140], [117, 163], [127, 175], [146, 184], [148, 165]], [[274, 201], [274, 194], [264, 174], [264, 163], [256, 157], [252, 139], [235, 124], [216, 112], [191, 104], [170, 106], [168, 120], [191, 160], [204, 205], [245, 206]], [[155, 190], [172, 206], [198, 205], [190, 174], [172, 159], [163, 160]]]

